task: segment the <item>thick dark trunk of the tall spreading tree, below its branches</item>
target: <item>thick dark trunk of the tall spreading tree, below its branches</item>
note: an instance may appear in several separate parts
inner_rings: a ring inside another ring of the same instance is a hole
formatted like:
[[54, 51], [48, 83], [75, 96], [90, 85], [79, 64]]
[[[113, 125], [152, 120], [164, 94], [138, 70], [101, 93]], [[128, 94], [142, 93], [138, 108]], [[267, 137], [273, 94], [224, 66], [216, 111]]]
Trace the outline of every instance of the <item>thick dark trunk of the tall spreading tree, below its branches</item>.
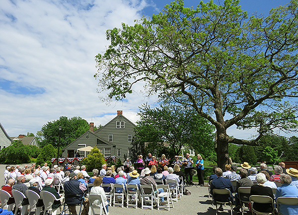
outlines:
[[228, 136], [225, 133], [217, 133], [217, 147], [216, 147], [216, 153], [217, 153], [217, 163], [218, 167], [220, 167], [223, 172], [225, 171], [224, 165], [228, 162]]

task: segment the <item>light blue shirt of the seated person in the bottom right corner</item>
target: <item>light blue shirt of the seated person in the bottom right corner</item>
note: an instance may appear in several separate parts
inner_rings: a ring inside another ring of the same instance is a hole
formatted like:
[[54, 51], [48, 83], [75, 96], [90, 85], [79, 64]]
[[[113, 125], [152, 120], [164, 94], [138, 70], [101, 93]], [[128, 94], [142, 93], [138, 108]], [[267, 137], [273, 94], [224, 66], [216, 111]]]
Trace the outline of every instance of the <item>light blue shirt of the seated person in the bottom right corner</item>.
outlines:
[[[279, 197], [298, 198], [298, 189], [291, 184], [282, 184], [276, 190], [276, 199]], [[279, 210], [283, 215], [297, 215], [298, 205], [279, 205]]]

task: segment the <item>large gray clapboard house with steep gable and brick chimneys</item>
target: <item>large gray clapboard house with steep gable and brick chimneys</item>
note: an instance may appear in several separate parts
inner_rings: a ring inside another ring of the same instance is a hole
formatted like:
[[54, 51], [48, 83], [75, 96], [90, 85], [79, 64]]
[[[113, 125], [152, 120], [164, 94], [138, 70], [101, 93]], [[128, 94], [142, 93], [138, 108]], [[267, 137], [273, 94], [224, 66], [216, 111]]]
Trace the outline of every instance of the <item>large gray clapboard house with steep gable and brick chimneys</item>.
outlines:
[[[106, 156], [117, 156], [124, 160], [124, 155], [130, 156], [132, 139], [135, 136], [135, 125], [117, 111], [117, 116], [100, 129], [93, 131], [94, 123], [90, 123], [90, 130], [62, 149], [62, 157], [74, 157], [78, 148], [96, 146]], [[81, 157], [89, 152], [79, 151]]]

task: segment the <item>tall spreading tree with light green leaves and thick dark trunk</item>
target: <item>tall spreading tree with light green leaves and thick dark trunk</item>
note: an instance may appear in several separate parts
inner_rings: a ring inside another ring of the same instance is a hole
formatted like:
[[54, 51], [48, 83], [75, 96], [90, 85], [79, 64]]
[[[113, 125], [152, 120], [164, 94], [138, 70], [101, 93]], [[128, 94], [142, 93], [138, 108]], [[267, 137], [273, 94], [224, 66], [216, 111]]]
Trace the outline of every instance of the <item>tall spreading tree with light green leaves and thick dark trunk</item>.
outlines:
[[[298, 2], [249, 20], [238, 4], [201, 1], [193, 9], [176, 0], [134, 26], [107, 30], [111, 44], [95, 57], [98, 91], [109, 90], [103, 99], [122, 100], [143, 81], [146, 95], [190, 106], [216, 127], [222, 168], [228, 143], [296, 131], [297, 105], [286, 99], [298, 97]], [[229, 137], [233, 125], [259, 135]]]

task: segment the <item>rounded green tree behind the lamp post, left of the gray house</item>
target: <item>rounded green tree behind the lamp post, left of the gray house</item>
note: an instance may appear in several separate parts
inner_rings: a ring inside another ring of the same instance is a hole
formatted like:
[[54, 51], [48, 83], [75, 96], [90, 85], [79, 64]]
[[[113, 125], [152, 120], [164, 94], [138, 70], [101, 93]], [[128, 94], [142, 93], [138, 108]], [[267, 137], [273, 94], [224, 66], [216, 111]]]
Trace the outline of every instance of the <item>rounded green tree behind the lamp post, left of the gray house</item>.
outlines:
[[67, 146], [90, 129], [88, 122], [80, 117], [67, 118], [62, 116], [58, 120], [43, 125], [41, 132], [38, 132], [38, 135], [43, 138], [40, 147], [47, 144], [52, 144], [54, 147], [58, 146], [59, 126], [62, 127], [60, 147]]

